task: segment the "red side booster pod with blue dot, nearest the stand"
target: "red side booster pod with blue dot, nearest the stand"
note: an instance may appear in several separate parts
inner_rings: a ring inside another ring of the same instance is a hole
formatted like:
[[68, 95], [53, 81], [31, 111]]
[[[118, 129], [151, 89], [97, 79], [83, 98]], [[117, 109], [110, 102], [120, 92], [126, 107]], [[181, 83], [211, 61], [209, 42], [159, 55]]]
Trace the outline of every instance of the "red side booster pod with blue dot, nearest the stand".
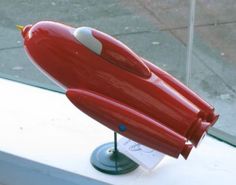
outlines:
[[69, 89], [66, 95], [81, 111], [138, 143], [176, 158], [187, 158], [191, 150], [185, 137], [116, 100], [82, 89]]

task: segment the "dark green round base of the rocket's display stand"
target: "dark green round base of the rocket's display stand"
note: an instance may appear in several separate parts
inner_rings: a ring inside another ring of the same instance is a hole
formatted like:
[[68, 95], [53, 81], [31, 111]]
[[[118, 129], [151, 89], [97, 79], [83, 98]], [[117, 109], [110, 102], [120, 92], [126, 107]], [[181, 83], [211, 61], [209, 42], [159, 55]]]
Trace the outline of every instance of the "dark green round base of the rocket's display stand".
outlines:
[[106, 143], [96, 148], [90, 159], [97, 170], [111, 175], [126, 174], [138, 167], [134, 161], [114, 150], [113, 143]]

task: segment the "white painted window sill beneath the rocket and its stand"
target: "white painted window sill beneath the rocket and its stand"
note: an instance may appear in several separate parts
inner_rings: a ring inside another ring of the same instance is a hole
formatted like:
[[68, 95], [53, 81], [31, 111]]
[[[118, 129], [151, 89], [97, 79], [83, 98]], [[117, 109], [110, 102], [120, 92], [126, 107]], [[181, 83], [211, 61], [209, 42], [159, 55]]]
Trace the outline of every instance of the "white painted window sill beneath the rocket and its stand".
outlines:
[[0, 79], [0, 184], [234, 184], [236, 149], [206, 137], [187, 161], [166, 157], [152, 172], [111, 176], [90, 155], [113, 132], [63, 95]]

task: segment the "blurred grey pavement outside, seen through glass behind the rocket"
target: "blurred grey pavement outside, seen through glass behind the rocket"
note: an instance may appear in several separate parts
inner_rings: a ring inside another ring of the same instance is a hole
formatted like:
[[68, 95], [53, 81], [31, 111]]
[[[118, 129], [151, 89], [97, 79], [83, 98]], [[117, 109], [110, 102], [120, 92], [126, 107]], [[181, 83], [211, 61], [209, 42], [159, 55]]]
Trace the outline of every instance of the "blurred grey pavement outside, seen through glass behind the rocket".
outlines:
[[[16, 24], [26, 25], [40, 20], [52, 20], [73, 27], [94, 27], [106, 32], [185, 83], [190, 2], [0, 0], [0, 78], [63, 93], [60, 87], [31, 64], [23, 49], [21, 35], [15, 27]], [[209, 134], [234, 146], [235, 10], [235, 0], [196, 1], [189, 83], [189, 87], [215, 106], [220, 114], [219, 121]]]

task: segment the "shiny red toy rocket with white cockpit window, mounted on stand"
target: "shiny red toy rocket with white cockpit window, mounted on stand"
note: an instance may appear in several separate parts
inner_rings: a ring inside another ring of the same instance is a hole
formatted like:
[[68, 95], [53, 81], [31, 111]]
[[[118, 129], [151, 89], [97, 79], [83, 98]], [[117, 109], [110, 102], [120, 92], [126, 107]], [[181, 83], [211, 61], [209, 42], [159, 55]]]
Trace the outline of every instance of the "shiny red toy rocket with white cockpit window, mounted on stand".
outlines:
[[187, 159], [218, 119], [184, 84], [96, 29], [42, 21], [22, 36], [32, 61], [77, 108], [148, 147]]

